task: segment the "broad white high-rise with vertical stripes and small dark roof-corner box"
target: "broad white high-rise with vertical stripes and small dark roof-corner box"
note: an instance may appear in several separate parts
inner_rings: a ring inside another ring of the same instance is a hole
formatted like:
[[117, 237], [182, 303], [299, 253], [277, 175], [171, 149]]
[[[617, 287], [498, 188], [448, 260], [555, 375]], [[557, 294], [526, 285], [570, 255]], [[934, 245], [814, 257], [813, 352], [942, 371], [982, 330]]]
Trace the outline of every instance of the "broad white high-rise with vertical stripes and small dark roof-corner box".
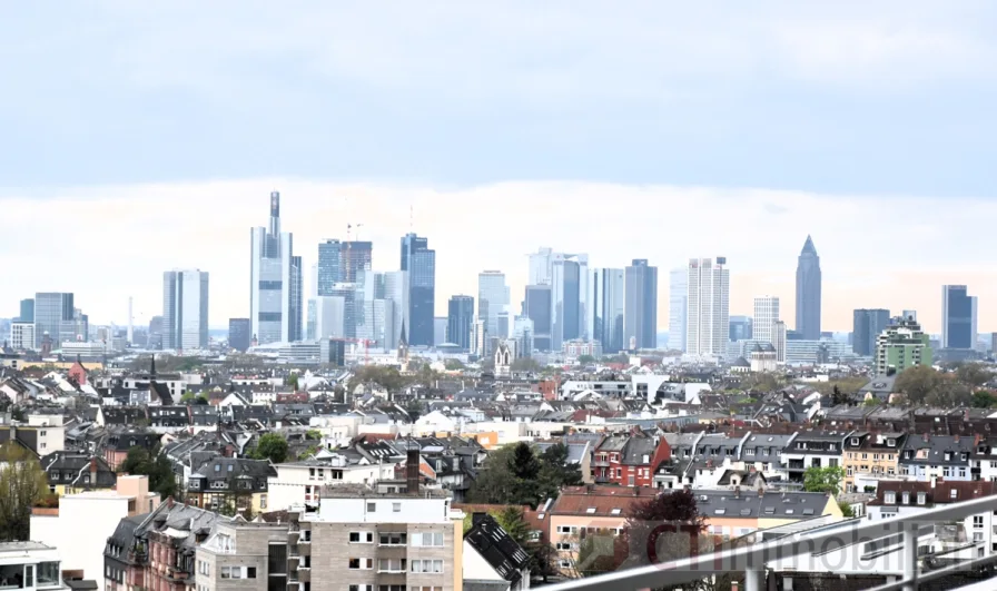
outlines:
[[727, 257], [689, 260], [687, 353], [720, 357], [730, 329], [730, 269]]

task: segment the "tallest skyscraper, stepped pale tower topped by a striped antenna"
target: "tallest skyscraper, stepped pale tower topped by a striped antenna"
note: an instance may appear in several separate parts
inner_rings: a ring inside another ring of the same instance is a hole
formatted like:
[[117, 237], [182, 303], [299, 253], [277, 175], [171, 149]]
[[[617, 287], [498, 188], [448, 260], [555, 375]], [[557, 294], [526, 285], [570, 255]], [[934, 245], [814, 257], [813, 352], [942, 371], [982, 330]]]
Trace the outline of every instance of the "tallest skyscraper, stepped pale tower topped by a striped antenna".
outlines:
[[258, 344], [302, 338], [302, 257], [294, 237], [280, 232], [280, 194], [270, 194], [269, 227], [251, 230], [249, 319]]

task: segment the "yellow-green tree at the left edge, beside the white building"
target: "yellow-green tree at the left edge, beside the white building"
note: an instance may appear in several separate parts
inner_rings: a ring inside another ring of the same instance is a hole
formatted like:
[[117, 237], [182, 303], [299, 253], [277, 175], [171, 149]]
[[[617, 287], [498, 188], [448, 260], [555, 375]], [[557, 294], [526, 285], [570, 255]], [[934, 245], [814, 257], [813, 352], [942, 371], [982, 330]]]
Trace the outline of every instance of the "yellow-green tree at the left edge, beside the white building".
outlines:
[[0, 446], [0, 542], [30, 539], [31, 506], [48, 492], [37, 457], [13, 443]]

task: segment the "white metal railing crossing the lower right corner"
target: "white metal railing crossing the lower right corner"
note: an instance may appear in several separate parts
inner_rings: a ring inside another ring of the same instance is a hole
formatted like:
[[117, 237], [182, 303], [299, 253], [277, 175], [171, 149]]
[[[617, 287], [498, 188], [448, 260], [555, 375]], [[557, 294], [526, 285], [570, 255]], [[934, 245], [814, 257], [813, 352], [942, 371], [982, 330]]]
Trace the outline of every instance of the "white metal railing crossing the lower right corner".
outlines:
[[[801, 554], [827, 553], [859, 543], [900, 534], [904, 577], [869, 591], [915, 591], [918, 583], [965, 573], [997, 563], [997, 554], [989, 554], [955, 565], [919, 572], [918, 535], [920, 528], [929, 523], [961, 521], [969, 515], [997, 511], [997, 495], [975, 499], [938, 509], [929, 509], [910, 515], [868, 521], [857, 519], [830, 531], [800, 532], [748, 548], [705, 553], [683, 560], [624, 569], [586, 579], [545, 587], [545, 591], [622, 591], [626, 589], [654, 589], [680, 585], [721, 573], [744, 573], [747, 591], [764, 589], [766, 564]], [[988, 549], [989, 550], [989, 549]], [[794, 575], [806, 574], [796, 571]]]

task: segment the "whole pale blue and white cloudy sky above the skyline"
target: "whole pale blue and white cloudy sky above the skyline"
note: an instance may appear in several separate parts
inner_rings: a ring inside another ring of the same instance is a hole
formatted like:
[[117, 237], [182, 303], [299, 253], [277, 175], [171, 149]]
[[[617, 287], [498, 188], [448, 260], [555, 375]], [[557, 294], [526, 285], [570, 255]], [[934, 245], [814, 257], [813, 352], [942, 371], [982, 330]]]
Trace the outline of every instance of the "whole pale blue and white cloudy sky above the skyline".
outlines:
[[374, 266], [409, 229], [437, 314], [483, 269], [521, 298], [526, 254], [667, 270], [725, 256], [731, 313], [782, 298], [813, 236], [823, 327], [918, 309], [941, 285], [997, 329], [997, 4], [589, 0], [495, 6], [18, 2], [0, 35], [0, 316], [71, 290], [92, 322], [161, 309], [161, 274], [211, 275], [248, 313], [249, 227], [363, 224]]

